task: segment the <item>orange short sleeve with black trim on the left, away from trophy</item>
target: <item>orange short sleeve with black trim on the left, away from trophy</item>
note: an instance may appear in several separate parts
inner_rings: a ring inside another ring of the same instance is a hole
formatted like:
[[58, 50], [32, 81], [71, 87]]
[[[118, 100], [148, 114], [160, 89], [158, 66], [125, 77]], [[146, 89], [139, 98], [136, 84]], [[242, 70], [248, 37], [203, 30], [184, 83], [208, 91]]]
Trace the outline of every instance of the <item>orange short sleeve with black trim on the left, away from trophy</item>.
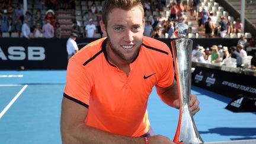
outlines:
[[69, 59], [63, 96], [88, 108], [91, 89], [92, 78], [85, 66]]

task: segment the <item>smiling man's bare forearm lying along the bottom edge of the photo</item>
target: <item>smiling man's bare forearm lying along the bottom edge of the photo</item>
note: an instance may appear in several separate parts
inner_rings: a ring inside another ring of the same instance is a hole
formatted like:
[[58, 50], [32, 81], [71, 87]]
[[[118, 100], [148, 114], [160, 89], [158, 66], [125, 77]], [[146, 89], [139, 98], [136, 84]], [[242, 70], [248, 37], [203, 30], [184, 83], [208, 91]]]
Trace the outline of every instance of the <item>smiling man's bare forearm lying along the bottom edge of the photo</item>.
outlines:
[[93, 127], [86, 126], [84, 123], [68, 130], [62, 129], [63, 144], [69, 143], [145, 143], [143, 137], [127, 137], [114, 135]]

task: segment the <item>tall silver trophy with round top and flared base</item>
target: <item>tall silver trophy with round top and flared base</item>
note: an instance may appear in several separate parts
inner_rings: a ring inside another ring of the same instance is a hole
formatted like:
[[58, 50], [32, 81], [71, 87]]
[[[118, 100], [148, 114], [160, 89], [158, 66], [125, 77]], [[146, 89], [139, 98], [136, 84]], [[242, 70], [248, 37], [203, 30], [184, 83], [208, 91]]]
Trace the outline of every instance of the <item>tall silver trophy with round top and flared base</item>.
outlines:
[[185, 144], [203, 143], [194, 123], [193, 114], [189, 111], [191, 91], [191, 49], [193, 41], [187, 39], [187, 35], [188, 25], [183, 23], [177, 24], [174, 36], [178, 39], [171, 41], [181, 105], [174, 142]]

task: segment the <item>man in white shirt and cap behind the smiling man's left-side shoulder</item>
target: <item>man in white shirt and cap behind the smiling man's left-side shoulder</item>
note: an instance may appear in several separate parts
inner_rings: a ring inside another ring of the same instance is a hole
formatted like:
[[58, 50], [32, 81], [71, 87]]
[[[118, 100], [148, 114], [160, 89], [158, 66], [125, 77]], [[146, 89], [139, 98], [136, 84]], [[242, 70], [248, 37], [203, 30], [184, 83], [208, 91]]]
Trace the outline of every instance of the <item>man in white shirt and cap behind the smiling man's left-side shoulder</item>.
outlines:
[[69, 37], [67, 43], [66, 43], [66, 49], [68, 52], [68, 59], [71, 58], [71, 56], [75, 55], [75, 53], [78, 52], [78, 46], [76, 44], [76, 37], [78, 37], [77, 34], [71, 33], [71, 36]]

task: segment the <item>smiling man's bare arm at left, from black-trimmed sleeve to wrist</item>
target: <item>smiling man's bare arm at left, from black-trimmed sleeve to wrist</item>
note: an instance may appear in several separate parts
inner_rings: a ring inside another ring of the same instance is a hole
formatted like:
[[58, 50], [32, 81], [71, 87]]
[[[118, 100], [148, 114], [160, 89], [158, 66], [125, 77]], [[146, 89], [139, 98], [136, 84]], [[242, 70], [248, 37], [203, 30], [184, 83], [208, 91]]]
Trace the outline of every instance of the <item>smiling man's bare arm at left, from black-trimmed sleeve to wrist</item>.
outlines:
[[126, 137], [98, 130], [84, 123], [88, 109], [63, 97], [62, 142], [66, 143], [145, 143], [143, 137]]

